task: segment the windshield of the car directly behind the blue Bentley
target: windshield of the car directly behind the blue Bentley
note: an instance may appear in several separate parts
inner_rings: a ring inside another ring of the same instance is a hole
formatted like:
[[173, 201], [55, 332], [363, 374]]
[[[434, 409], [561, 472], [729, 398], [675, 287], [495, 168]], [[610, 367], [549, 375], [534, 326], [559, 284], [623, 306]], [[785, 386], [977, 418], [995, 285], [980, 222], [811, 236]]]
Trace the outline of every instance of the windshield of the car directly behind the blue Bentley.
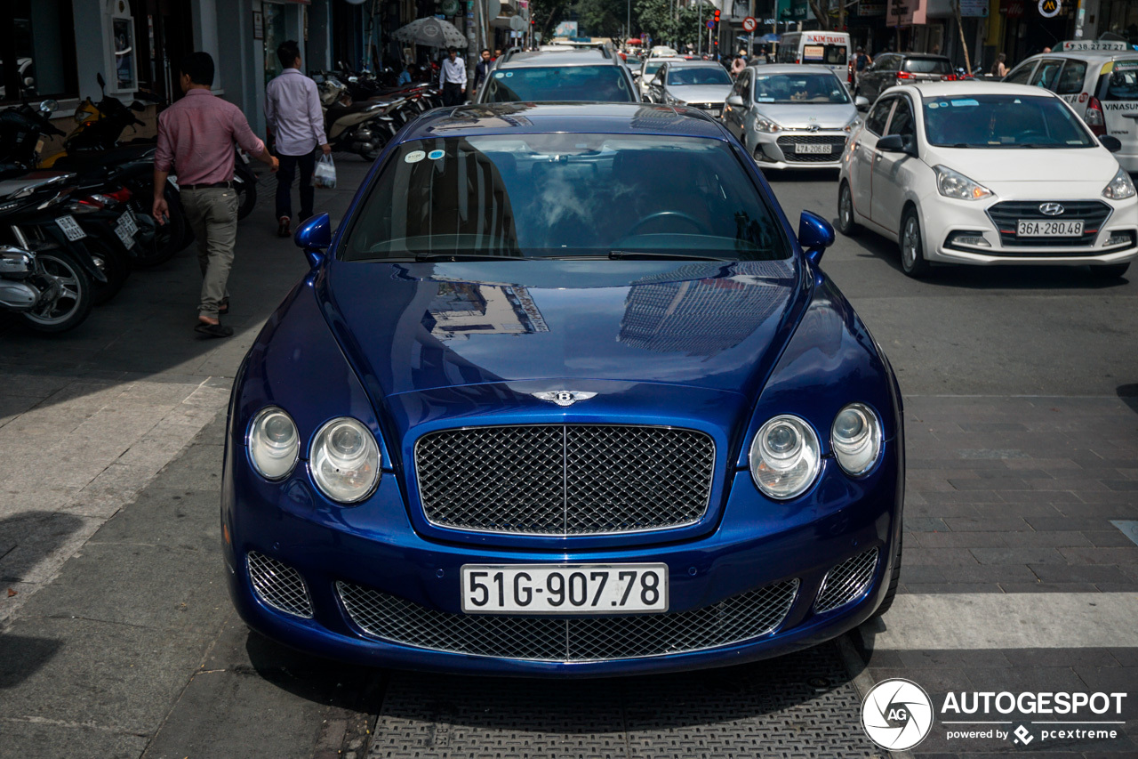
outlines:
[[597, 100], [635, 103], [620, 66], [541, 66], [495, 71], [486, 103]]

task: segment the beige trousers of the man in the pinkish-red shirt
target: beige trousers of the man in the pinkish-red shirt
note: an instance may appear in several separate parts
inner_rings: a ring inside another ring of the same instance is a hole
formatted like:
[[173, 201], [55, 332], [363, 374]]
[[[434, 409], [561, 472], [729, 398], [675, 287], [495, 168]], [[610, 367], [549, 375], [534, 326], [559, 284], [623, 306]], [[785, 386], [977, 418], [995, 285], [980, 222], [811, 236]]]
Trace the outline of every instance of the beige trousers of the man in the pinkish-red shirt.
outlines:
[[197, 239], [201, 267], [198, 313], [216, 319], [222, 300], [229, 297], [226, 284], [237, 243], [237, 190], [221, 187], [183, 189], [182, 206]]

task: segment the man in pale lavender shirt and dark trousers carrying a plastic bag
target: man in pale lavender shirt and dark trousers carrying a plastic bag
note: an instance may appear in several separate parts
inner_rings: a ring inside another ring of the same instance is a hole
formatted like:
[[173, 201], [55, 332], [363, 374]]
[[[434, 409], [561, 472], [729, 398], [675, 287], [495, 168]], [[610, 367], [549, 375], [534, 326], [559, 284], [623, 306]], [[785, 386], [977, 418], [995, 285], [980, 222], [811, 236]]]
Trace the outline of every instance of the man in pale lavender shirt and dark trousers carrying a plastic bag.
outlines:
[[315, 191], [312, 173], [316, 169], [316, 148], [324, 155], [332, 146], [324, 137], [324, 114], [316, 83], [300, 73], [300, 47], [287, 40], [277, 48], [283, 71], [265, 87], [265, 121], [277, 138], [280, 171], [277, 172], [277, 235], [288, 237], [292, 221], [292, 178], [300, 171], [300, 215], [312, 217]]

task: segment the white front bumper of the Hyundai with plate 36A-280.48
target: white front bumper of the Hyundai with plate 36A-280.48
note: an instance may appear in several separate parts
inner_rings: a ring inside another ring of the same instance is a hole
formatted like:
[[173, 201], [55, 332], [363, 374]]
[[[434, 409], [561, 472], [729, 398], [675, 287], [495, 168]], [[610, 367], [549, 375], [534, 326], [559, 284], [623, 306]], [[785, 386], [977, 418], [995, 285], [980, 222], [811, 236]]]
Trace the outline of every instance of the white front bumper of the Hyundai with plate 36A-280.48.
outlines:
[[[1038, 195], [1038, 189], [1036, 190]], [[1066, 196], [1064, 196], [1066, 198]], [[998, 225], [1000, 217], [992, 209], [1000, 204], [1041, 203], [1037, 197], [1015, 198], [997, 195], [997, 198], [972, 203], [937, 196], [923, 209], [925, 258], [930, 261], [967, 264], [1058, 264], [1098, 266], [1125, 263], [1138, 256], [1138, 197], [1125, 201], [1107, 201], [1087, 197], [1078, 201], [1063, 199], [1061, 203], [1102, 202], [1110, 212], [1100, 225], [1088, 231], [1085, 240], [1073, 243], [1040, 240], [1032, 244], [1019, 238], [1012, 225]], [[1006, 215], [1006, 214], [1005, 214]], [[1069, 214], [1070, 215], [1070, 214]], [[1007, 227], [1003, 229], [1003, 227]], [[962, 242], [960, 236], [981, 237], [987, 245]], [[1107, 243], [1113, 238], [1114, 242]], [[1122, 239], [1124, 238], [1124, 240]]]

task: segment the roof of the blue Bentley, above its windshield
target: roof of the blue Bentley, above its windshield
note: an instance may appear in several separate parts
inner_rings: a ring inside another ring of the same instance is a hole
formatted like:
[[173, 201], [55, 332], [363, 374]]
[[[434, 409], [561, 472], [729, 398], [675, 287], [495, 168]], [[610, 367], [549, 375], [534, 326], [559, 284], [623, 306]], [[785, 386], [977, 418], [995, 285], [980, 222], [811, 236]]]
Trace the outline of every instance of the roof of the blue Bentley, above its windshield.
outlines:
[[486, 103], [436, 108], [415, 120], [401, 141], [543, 132], [725, 139], [719, 123], [696, 108], [651, 103]]

